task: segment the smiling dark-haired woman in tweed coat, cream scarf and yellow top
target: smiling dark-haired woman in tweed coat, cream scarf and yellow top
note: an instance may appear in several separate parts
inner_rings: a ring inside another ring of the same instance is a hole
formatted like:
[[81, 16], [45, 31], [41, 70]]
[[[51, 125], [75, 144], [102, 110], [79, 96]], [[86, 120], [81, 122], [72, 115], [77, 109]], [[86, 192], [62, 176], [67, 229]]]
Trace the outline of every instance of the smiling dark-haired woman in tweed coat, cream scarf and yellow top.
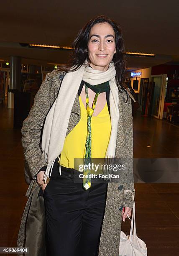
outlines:
[[[120, 27], [97, 16], [82, 28], [73, 48], [69, 63], [46, 75], [23, 122], [24, 156], [33, 181], [18, 246], [29, 247], [33, 256], [117, 256], [121, 219], [130, 217], [133, 207], [124, 190], [135, 195], [134, 98], [123, 85]], [[128, 160], [124, 175], [113, 182], [90, 178], [89, 165], [80, 178], [74, 168], [79, 158], [84, 164], [92, 158]]]

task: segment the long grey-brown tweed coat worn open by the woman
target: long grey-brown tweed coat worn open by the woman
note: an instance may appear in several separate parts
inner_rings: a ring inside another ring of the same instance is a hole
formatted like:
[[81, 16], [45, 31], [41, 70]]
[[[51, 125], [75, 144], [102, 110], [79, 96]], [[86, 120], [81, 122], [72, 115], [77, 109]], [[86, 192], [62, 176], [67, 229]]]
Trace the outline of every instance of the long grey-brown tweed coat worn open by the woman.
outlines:
[[[46, 74], [44, 81], [36, 93], [33, 106], [28, 117], [23, 121], [22, 145], [24, 157], [28, 164], [32, 181], [26, 192], [28, 201], [23, 212], [18, 233], [18, 247], [29, 247], [29, 256], [46, 256], [45, 249], [45, 211], [44, 200], [38, 195], [40, 187], [36, 182], [36, 174], [46, 166], [41, 150], [41, 135], [43, 124], [51, 105], [54, 103], [61, 82], [66, 73], [54, 70]], [[130, 90], [119, 92], [119, 122], [116, 141], [115, 158], [128, 157], [128, 167], [119, 182], [109, 182], [107, 186], [107, 198], [105, 215], [102, 223], [100, 236], [100, 248], [98, 256], [118, 256], [120, 243], [120, 230], [123, 207], [133, 208], [132, 194], [125, 189], [130, 189], [135, 196], [133, 182], [133, 120], [131, 110], [131, 99], [135, 102]], [[79, 96], [77, 94], [72, 111], [66, 136], [77, 125], [80, 120]], [[48, 186], [48, 185], [47, 185]], [[22, 256], [23, 254], [18, 254]]]

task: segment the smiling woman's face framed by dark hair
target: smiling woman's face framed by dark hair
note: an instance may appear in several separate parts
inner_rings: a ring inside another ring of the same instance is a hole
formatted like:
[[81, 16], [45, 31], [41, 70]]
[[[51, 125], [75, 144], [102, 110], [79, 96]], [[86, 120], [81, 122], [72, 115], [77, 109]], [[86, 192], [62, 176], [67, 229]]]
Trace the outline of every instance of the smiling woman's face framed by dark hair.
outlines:
[[92, 26], [88, 42], [88, 56], [93, 69], [108, 69], [113, 55], [116, 53], [115, 32], [109, 23]]

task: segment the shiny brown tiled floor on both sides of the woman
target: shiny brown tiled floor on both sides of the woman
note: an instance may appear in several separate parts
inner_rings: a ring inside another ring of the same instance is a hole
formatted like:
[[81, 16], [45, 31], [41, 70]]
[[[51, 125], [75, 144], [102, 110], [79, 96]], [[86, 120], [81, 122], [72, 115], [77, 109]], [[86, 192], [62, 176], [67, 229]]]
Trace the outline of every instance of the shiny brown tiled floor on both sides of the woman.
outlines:
[[[140, 113], [133, 126], [135, 158], [179, 158], [179, 127]], [[13, 110], [6, 102], [0, 104], [0, 135], [0, 247], [15, 247], [28, 186], [20, 129], [13, 129]], [[137, 235], [145, 241], [148, 256], [179, 255], [179, 184], [137, 183], [135, 189]], [[128, 218], [122, 230], [129, 234]]]

